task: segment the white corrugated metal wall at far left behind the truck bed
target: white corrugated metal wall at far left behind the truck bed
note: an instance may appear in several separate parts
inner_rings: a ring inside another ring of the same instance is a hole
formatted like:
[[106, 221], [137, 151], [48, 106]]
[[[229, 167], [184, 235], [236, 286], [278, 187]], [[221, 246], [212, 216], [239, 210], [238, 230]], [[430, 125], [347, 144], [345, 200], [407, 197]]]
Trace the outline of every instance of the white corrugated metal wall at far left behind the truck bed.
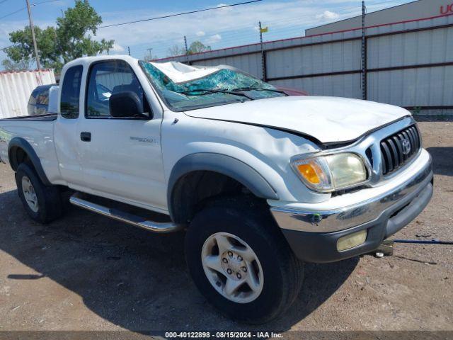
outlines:
[[0, 72], [0, 118], [28, 115], [30, 94], [36, 86], [54, 84], [53, 69], [24, 72]]

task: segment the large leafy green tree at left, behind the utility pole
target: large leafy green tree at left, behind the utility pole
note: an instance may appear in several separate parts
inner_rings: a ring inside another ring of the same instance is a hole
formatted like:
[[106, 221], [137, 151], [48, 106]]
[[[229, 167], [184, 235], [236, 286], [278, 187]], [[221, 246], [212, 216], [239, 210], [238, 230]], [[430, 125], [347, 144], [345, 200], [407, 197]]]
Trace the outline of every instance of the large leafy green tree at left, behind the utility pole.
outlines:
[[[38, 53], [43, 67], [53, 68], [57, 73], [62, 66], [79, 57], [97, 55], [108, 52], [114, 40], [93, 40], [96, 31], [102, 23], [101, 16], [88, 3], [88, 0], [76, 0], [74, 8], [67, 8], [62, 17], [57, 18], [57, 27], [47, 27], [42, 30], [35, 26]], [[8, 61], [2, 64], [15, 65], [25, 64], [33, 60], [33, 40], [29, 26], [23, 30], [9, 33], [9, 40], [13, 42], [5, 52]]]

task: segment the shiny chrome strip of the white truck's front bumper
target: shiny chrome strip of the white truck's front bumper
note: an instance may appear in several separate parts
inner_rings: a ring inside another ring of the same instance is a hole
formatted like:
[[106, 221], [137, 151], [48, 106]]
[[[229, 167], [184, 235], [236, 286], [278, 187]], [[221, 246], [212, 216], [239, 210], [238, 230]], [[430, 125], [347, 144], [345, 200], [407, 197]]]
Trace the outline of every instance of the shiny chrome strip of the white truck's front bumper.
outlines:
[[403, 183], [384, 195], [360, 204], [337, 210], [295, 210], [270, 208], [277, 224], [282, 229], [300, 232], [337, 232], [377, 220], [382, 213], [408, 196], [417, 196], [432, 181], [432, 161], [416, 174], [411, 181]]

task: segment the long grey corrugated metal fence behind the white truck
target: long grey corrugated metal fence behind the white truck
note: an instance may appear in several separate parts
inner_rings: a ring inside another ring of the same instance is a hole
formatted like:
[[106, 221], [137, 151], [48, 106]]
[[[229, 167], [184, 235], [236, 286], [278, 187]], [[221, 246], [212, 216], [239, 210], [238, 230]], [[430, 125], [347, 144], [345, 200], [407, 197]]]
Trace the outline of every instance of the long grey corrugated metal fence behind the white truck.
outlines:
[[364, 98], [415, 113], [453, 114], [452, 15], [368, 27], [365, 43], [362, 28], [356, 28], [158, 61], [171, 60], [229, 64], [271, 84], [312, 95]]

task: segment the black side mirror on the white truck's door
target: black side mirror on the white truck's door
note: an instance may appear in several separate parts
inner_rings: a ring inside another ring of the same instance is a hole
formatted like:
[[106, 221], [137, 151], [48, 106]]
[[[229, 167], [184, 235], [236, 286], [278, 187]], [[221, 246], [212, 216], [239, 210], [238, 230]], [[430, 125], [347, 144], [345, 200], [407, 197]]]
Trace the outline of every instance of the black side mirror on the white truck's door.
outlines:
[[108, 103], [110, 106], [110, 115], [112, 117], [145, 117], [140, 98], [133, 91], [123, 91], [112, 94], [108, 99]]

